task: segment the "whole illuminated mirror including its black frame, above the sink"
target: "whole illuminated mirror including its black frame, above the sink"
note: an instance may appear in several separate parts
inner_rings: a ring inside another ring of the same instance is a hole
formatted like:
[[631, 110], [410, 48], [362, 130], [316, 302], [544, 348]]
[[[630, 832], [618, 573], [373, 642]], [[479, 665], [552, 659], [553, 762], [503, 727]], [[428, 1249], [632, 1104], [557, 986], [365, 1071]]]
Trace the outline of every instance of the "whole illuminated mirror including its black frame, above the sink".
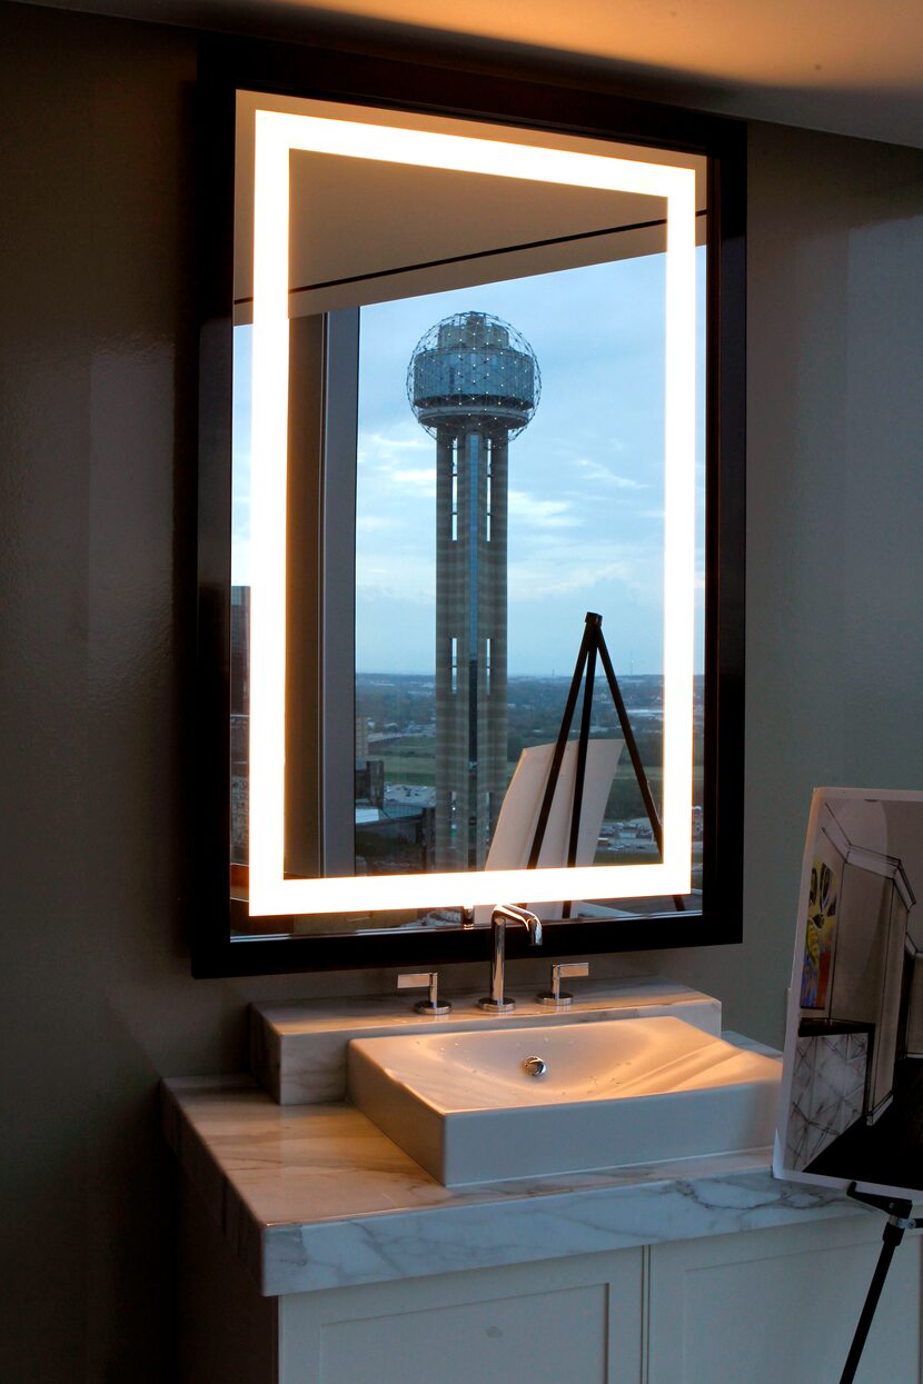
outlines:
[[203, 62], [197, 973], [739, 936], [736, 129], [298, 57]]

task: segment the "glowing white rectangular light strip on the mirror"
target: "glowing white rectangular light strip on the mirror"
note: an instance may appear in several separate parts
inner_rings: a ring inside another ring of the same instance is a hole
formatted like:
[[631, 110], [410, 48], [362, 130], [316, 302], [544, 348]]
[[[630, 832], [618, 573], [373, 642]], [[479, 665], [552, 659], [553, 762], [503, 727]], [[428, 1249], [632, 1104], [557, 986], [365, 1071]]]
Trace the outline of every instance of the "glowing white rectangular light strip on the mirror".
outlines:
[[[250, 465], [253, 916], [686, 894], [692, 846], [695, 172], [661, 163], [255, 112]], [[666, 198], [663, 861], [574, 869], [285, 879], [285, 490], [291, 151]]]

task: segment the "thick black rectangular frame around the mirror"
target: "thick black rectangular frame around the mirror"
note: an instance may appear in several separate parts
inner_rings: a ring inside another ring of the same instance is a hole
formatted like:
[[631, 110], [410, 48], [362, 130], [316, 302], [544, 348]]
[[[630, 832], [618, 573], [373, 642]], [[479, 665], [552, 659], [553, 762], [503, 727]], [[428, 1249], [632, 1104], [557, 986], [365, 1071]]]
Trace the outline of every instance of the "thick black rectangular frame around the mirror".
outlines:
[[[405, 58], [209, 37], [198, 75], [199, 511], [192, 974], [277, 974], [487, 958], [486, 930], [230, 936], [230, 512], [235, 91], [663, 144], [709, 158], [706, 709], [702, 911], [549, 922], [542, 954], [738, 943], [743, 895], [746, 125], [599, 90]], [[270, 920], [267, 920], [268, 923]], [[524, 933], [509, 937], [524, 955]]]

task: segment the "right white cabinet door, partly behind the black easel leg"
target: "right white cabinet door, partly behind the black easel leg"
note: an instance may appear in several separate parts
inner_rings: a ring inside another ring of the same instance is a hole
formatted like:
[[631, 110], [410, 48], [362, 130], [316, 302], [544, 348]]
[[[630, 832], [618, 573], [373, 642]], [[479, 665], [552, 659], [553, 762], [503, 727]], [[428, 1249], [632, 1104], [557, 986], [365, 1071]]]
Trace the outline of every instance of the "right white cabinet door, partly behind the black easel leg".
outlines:
[[[648, 1384], [840, 1378], [881, 1247], [879, 1215], [650, 1251]], [[920, 1381], [920, 1240], [897, 1251], [857, 1384]]]

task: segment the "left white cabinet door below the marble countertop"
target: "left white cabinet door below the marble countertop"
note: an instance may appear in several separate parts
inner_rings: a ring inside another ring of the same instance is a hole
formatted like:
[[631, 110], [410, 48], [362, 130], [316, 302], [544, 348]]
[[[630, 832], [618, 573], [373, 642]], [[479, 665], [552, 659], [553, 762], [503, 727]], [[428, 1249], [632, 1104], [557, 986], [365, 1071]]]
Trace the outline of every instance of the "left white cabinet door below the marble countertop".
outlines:
[[306, 1293], [280, 1384], [641, 1384], [642, 1251]]

